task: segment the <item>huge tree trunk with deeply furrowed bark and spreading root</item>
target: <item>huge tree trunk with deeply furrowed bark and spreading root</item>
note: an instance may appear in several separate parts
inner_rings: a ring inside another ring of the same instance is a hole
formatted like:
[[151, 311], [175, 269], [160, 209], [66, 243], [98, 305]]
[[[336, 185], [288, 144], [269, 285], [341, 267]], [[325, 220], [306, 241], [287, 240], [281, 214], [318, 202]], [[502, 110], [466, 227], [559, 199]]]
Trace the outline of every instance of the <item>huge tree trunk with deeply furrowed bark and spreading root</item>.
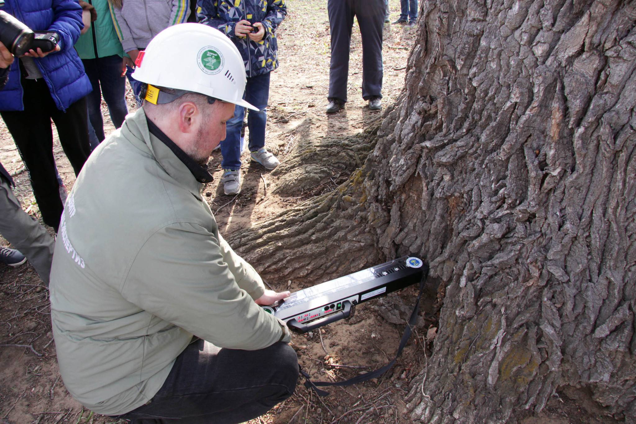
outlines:
[[512, 421], [567, 386], [636, 420], [636, 2], [420, 14], [363, 167], [230, 241], [277, 278], [424, 257], [446, 295], [414, 420]]

